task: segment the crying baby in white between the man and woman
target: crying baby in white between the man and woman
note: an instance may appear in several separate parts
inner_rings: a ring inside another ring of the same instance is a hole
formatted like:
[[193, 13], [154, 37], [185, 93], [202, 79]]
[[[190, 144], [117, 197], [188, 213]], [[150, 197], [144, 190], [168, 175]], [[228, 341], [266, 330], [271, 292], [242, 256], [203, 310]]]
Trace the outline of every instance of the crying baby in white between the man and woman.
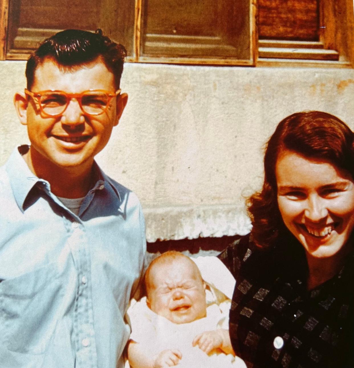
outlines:
[[131, 367], [246, 367], [231, 347], [228, 316], [217, 304], [207, 307], [206, 285], [191, 259], [163, 253], [149, 265], [145, 287], [146, 304], [129, 313]]

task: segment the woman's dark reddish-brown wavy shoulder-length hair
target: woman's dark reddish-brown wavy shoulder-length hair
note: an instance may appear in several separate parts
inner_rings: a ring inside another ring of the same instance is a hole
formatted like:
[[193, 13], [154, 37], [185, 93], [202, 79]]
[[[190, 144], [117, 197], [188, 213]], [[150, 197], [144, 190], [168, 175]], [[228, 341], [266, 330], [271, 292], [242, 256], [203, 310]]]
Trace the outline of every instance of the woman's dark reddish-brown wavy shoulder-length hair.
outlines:
[[353, 132], [342, 120], [320, 111], [295, 113], [283, 119], [265, 148], [263, 188], [247, 201], [252, 236], [261, 247], [289, 234], [278, 208], [275, 177], [275, 164], [283, 150], [329, 161], [354, 178]]

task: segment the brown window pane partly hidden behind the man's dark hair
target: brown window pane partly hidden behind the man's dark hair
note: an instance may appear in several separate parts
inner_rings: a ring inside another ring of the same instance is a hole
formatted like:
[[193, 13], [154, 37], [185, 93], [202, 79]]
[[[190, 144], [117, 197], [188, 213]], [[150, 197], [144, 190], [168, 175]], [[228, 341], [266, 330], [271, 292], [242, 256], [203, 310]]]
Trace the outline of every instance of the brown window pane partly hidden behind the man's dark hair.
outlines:
[[94, 31], [122, 43], [133, 54], [134, 0], [11, 0], [8, 51], [35, 49], [55, 32], [78, 28]]

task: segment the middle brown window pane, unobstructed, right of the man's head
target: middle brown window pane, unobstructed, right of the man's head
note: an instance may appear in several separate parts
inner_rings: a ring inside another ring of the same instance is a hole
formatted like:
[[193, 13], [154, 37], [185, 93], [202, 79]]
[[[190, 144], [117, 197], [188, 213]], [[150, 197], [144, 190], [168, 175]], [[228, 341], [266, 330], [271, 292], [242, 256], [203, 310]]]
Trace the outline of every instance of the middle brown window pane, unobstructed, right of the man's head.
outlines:
[[250, 0], [143, 0], [142, 56], [252, 58]]

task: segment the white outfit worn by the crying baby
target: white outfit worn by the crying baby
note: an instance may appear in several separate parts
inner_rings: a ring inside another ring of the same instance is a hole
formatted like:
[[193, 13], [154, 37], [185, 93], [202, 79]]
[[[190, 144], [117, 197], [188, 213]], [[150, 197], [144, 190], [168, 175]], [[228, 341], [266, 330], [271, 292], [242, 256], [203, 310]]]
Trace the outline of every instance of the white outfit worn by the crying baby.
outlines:
[[131, 323], [130, 339], [143, 344], [155, 355], [166, 349], [177, 349], [182, 354], [178, 368], [246, 368], [245, 363], [232, 354], [220, 349], [206, 355], [192, 341], [202, 332], [228, 329], [230, 303], [212, 304], [207, 307], [207, 315], [190, 323], [176, 324], [157, 315], [146, 304], [146, 297], [128, 310]]

